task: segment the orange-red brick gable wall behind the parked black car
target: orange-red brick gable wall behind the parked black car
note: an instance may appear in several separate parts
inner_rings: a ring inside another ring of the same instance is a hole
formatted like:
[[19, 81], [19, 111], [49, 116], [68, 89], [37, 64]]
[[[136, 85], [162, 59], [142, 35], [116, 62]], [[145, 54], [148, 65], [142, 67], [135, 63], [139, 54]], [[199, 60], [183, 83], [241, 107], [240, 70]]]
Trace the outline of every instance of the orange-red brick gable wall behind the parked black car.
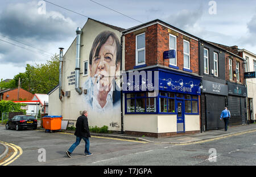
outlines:
[[[9, 98], [7, 98], [6, 95], [9, 95]], [[32, 100], [33, 97], [34, 97], [34, 94], [31, 94], [30, 92], [23, 90], [22, 88], [19, 89], [19, 99]], [[16, 101], [17, 98], [18, 98], [18, 88], [3, 93], [3, 100]]]

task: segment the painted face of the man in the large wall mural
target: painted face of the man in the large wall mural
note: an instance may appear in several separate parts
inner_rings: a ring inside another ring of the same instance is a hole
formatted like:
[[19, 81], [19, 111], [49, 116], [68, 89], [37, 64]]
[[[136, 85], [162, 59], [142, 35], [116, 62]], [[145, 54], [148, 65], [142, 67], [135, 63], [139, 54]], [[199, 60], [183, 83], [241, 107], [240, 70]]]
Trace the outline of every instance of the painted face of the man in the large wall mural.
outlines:
[[92, 77], [92, 81], [95, 83], [97, 76], [100, 74], [100, 86], [104, 88], [104, 90], [108, 90], [108, 88], [111, 87], [115, 71], [119, 69], [119, 64], [116, 65], [115, 62], [116, 58], [117, 46], [112, 36], [109, 36], [106, 43], [101, 46], [97, 56], [96, 51], [93, 52], [92, 65], [90, 65], [90, 77]]

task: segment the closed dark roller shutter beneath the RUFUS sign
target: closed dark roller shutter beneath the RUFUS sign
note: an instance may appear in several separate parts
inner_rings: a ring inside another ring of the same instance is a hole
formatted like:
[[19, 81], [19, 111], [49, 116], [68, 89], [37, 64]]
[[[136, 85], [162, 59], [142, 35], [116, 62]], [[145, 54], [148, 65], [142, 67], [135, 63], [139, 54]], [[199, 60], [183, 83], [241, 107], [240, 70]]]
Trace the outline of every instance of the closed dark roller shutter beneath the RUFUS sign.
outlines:
[[221, 111], [225, 107], [225, 96], [205, 94], [206, 129], [222, 129], [224, 121], [220, 120]]

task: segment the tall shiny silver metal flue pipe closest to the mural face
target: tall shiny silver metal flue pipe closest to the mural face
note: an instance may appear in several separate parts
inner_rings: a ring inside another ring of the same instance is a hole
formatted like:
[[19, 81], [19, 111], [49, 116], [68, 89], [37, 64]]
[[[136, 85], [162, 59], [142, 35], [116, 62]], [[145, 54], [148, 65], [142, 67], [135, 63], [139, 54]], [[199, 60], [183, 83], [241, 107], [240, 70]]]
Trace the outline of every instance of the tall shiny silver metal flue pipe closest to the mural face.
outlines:
[[80, 47], [81, 47], [81, 34], [82, 29], [78, 27], [76, 29], [76, 68], [75, 68], [75, 90], [79, 93], [79, 95], [82, 94], [82, 88], [80, 87]]

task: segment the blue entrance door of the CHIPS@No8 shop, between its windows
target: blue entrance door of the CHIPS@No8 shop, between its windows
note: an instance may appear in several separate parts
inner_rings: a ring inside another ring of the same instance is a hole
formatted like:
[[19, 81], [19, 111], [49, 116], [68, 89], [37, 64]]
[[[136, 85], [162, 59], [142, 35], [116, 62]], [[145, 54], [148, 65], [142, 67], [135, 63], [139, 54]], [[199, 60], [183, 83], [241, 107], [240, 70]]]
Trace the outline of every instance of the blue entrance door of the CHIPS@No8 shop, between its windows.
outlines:
[[184, 104], [183, 100], [177, 100], [177, 133], [184, 133]]

